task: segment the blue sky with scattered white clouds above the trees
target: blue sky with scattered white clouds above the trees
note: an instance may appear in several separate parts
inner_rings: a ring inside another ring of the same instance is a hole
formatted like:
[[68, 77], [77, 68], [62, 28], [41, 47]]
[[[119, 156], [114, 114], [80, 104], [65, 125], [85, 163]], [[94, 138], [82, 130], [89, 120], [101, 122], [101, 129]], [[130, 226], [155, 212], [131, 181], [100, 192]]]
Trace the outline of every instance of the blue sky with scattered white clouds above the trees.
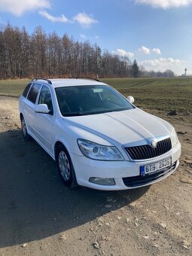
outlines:
[[0, 0], [0, 24], [67, 33], [146, 70], [192, 74], [192, 0]]

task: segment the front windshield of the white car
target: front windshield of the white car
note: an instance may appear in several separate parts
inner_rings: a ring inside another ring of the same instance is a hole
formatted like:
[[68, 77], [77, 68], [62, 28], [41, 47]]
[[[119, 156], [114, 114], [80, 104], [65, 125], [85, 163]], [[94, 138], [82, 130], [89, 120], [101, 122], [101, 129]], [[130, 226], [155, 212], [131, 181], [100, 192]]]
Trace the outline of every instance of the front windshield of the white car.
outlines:
[[120, 93], [107, 85], [58, 87], [55, 90], [63, 116], [101, 114], [134, 108]]

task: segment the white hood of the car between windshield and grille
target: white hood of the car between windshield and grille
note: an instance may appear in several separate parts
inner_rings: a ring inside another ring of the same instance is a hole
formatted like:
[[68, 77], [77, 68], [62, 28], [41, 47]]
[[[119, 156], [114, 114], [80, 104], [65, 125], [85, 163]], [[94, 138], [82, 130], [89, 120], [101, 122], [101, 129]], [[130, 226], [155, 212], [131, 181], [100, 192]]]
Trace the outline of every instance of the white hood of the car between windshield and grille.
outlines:
[[118, 142], [121, 145], [151, 137], [167, 136], [172, 132], [172, 126], [168, 122], [139, 108], [104, 114], [65, 117], [65, 120], [108, 140], [108, 142]]

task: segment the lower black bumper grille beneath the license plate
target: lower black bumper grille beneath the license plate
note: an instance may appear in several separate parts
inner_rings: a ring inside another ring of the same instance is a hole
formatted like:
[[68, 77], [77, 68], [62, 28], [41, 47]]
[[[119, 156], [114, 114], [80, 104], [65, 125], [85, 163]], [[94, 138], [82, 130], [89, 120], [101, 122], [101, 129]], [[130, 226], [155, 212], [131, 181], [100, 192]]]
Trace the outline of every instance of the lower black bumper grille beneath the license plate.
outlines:
[[151, 184], [154, 181], [159, 181], [162, 178], [166, 178], [176, 167], [176, 163], [172, 163], [172, 166], [168, 169], [161, 170], [160, 172], [155, 172], [154, 174], [148, 174], [145, 176], [139, 175], [134, 177], [123, 178], [123, 183], [126, 187], [141, 187], [147, 184]]

